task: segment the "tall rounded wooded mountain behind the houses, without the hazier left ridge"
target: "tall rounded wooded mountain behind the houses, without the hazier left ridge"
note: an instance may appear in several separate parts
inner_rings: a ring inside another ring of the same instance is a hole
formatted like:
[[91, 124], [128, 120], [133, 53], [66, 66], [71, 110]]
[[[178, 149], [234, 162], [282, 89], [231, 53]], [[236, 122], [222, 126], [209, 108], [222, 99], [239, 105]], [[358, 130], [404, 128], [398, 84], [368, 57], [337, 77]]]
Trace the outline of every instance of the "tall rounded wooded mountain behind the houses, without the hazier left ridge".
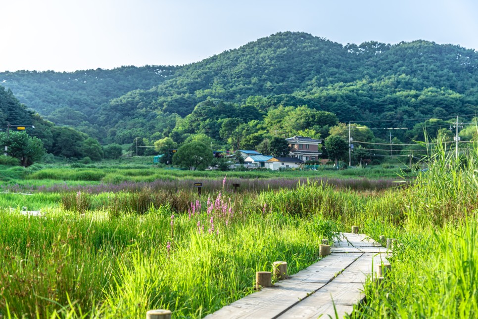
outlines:
[[[468, 114], [478, 104], [478, 52], [424, 40], [341, 45], [307, 33], [280, 32], [202, 61], [161, 68], [168, 76], [149, 88], [118, 91], [87, 110], [66, 105], [93, 122], [85, 124], [78, 114], [70, 125], [107, 141], [151, 133], [164, 137], [174, 131], [178, 115], [188, 117], [208, 98], [243, 105], [250, 97], [270, 97], [277, 103], [256, 105], [262, 112], [287, 102], [336, 113], [340, 121], [375, 116], [395, 118], [397, 125], [458, 110]], [[23, 102], [25, 93], [14, 93]]]

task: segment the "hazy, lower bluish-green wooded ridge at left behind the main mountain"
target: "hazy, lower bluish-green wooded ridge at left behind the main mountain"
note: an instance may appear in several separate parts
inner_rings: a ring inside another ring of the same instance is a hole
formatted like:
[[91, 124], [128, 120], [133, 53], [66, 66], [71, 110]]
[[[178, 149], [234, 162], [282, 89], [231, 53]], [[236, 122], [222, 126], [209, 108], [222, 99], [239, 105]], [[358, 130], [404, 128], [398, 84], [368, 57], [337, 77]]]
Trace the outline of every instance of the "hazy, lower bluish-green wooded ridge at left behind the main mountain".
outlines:
[[104, 134], [96, 122], [101, 107], [129, 91], [156, 86], [174, 71], [172, 66], [122, 66], [76, 72], [1, 72], [0, 85], [48, 120], [98, 137]]

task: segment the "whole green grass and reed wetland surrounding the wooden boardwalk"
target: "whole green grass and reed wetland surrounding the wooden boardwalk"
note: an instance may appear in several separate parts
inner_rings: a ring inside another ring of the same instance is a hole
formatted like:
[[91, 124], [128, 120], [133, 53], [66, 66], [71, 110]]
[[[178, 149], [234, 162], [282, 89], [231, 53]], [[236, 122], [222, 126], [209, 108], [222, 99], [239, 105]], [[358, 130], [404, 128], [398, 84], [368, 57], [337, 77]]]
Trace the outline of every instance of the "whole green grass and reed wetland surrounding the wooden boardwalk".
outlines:
[[478, 153], [442, 149], [426, 164], [384, 186], [315, 171], [17, 170], [1, 184], [0, 317], [202, 318], [252, 293], [256, 271], [284, 260], [296, 273], [322, 238], [360, 225], [402, 245], [353, 318], [476, 318]]

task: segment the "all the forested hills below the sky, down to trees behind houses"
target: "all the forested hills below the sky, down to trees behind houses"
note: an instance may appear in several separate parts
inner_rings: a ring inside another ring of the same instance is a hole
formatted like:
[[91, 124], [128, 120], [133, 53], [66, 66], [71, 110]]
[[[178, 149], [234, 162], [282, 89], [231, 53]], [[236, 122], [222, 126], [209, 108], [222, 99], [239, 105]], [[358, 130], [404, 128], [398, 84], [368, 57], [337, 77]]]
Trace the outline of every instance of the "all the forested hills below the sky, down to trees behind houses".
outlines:
[[171, 138], [258, 148], [277, 136], [343, 135], [349, 121], [360, 127], [355, 135], [368, 131], [367, 141], [391, 140], [383, 128], [402, 128], [393, 132], [398, 144], [427, 127], [444, 134], [456, 115], [472, 120], [478, 52], [284, 32], [184, 66], [4, 72], [0, 83], [51, 122], [103, 144], [139, 137], [142, 146]]

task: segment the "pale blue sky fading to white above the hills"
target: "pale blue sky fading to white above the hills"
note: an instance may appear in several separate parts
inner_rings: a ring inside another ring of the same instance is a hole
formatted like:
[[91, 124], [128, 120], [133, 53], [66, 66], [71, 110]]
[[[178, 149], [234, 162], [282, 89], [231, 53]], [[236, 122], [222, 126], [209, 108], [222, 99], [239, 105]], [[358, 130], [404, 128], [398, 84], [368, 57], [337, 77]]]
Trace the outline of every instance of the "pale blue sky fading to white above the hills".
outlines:
[[183, 65], [284, 31], [478, 50], [476, 0], [2, 0], [0, 72]]

